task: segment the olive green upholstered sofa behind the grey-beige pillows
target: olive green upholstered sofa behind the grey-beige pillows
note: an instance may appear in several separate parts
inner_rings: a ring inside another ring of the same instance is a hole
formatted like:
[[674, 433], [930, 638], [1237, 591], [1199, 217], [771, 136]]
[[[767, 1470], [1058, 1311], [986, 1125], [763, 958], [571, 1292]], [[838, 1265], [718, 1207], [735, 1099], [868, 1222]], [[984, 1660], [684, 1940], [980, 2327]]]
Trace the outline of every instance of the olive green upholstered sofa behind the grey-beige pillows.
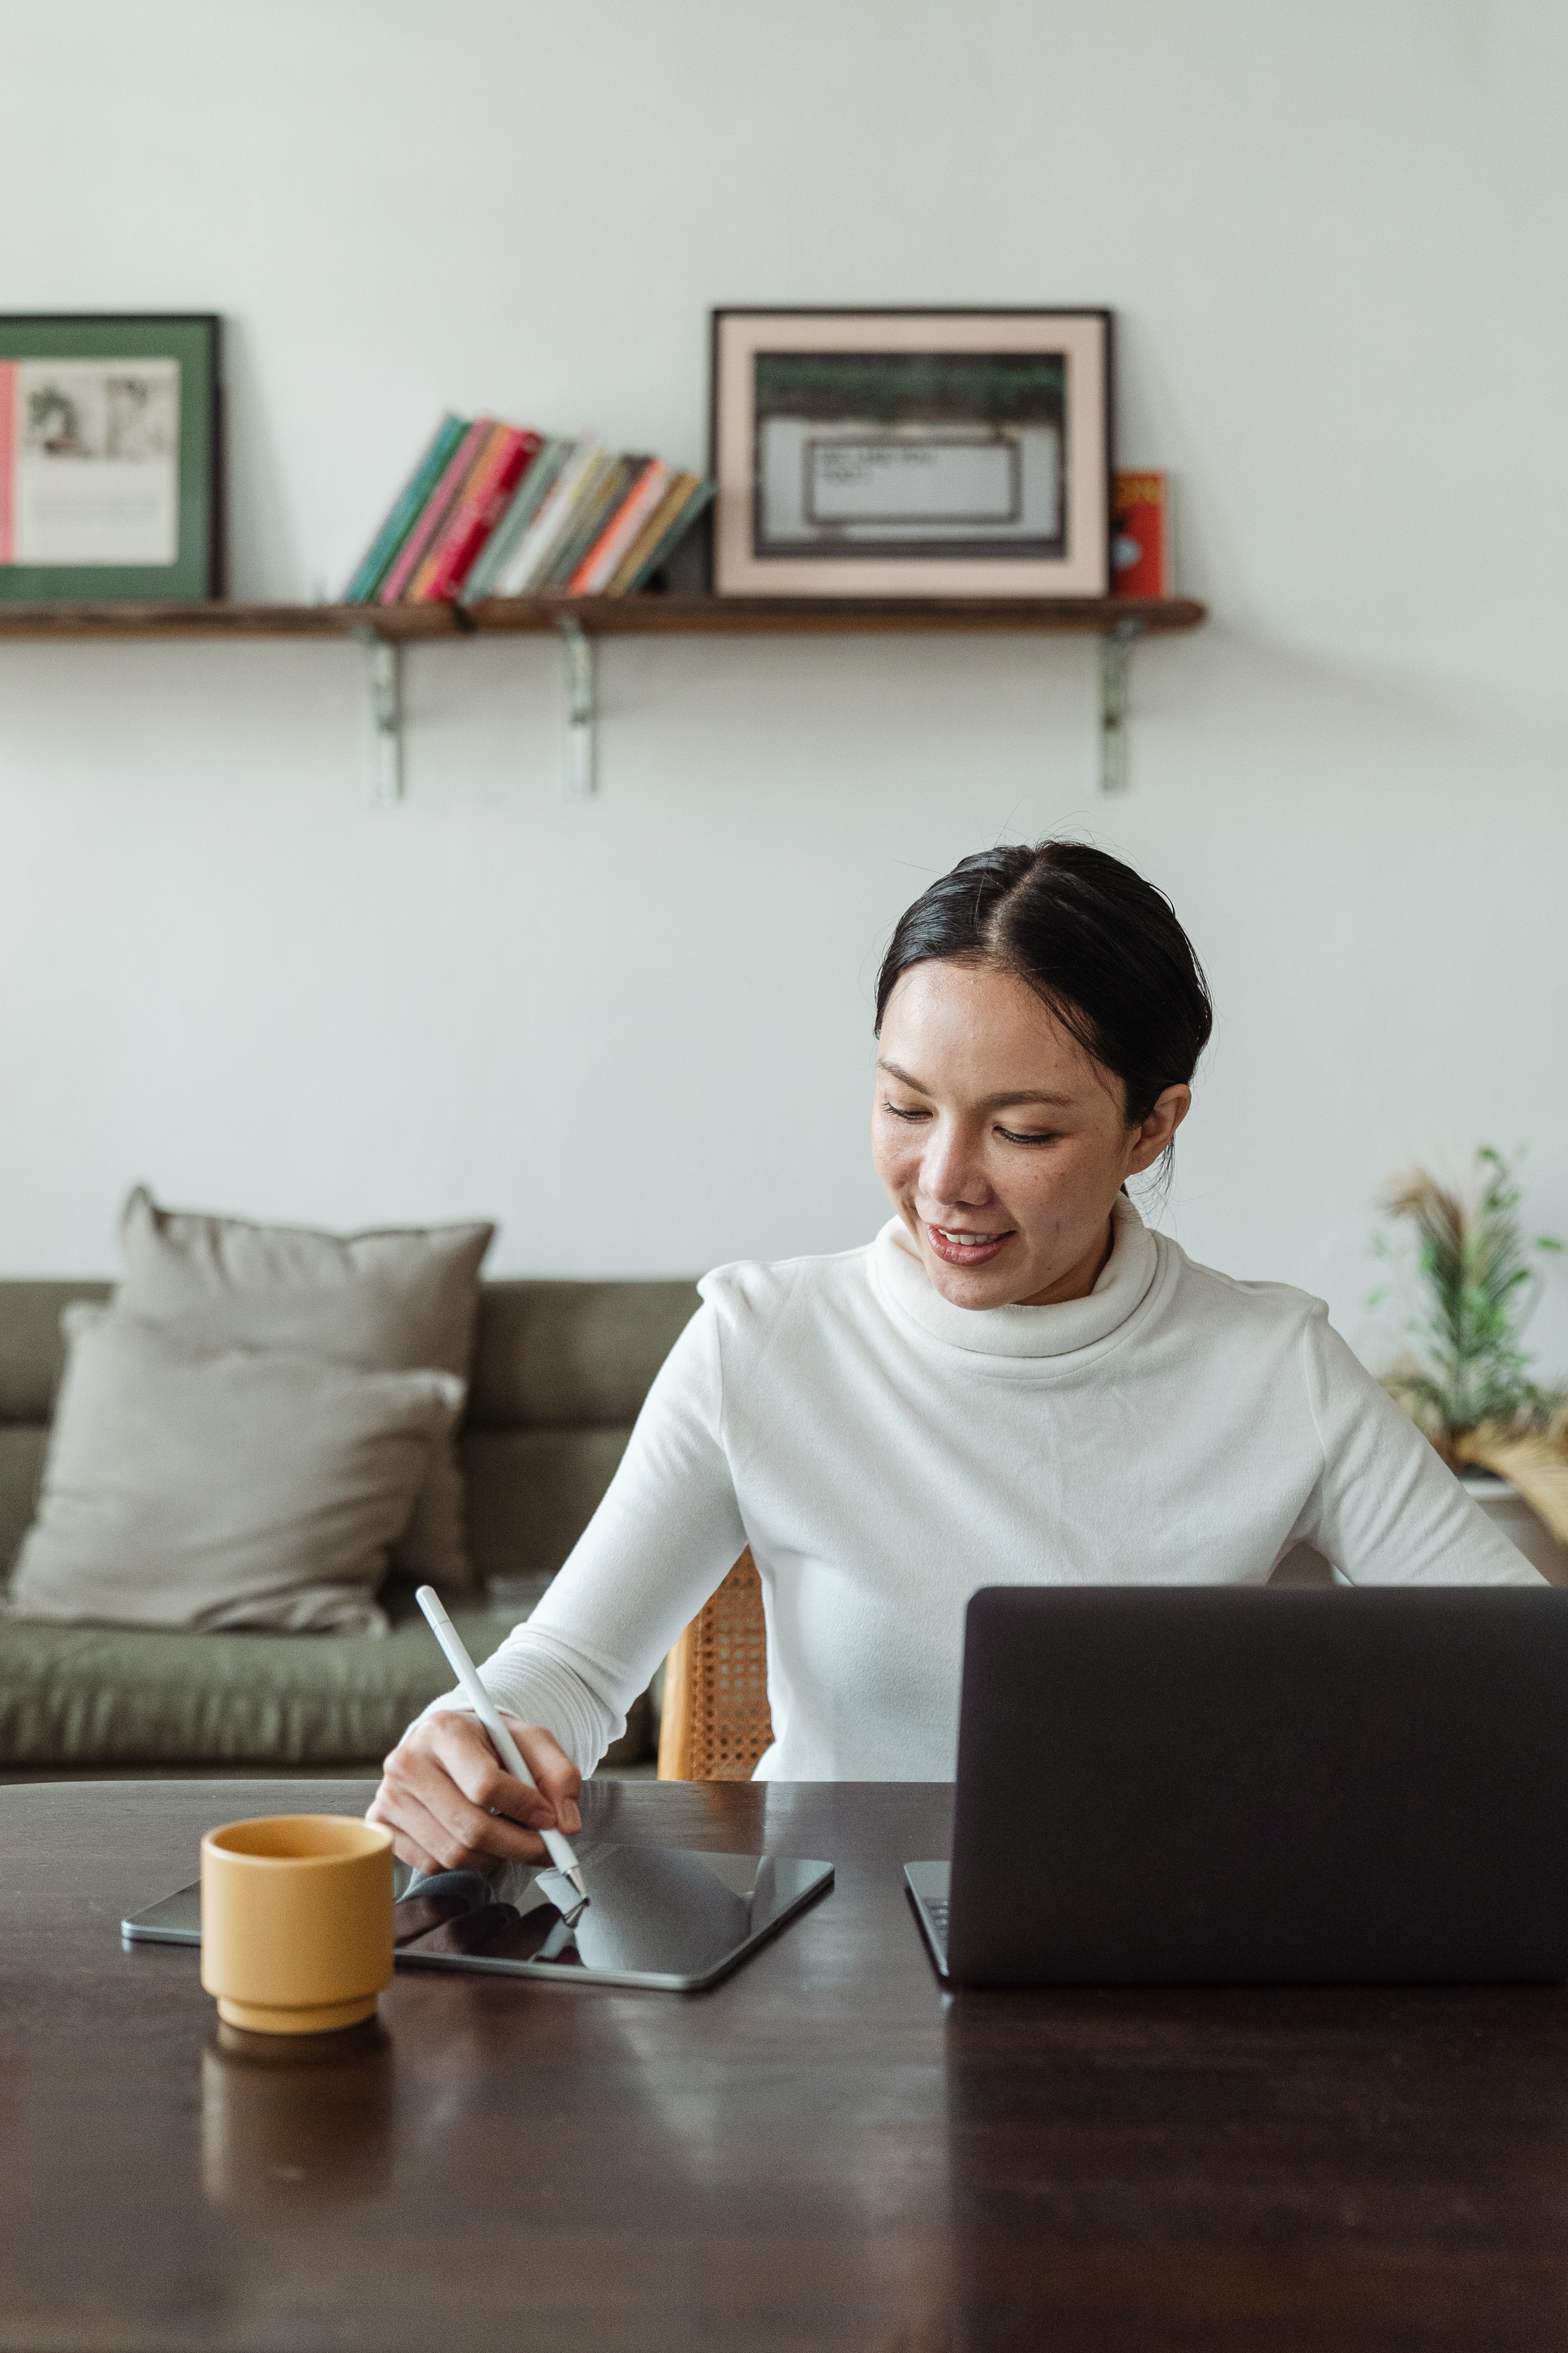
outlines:
[[[61, 1374], [61, 1308], [108, 1282], [0, 1282], [0, 1567], [33, 1518]], [[604, 1494], [682, 1325], [691, 1282], [484, 1282], [461, 1431], [480, 1579], [552, 1574]], [[0, 1619], [0, 1781], [371, 1772], [451, 1675], [390, 1581], [393, 1631], [146, 1633]], [[475, 1657], [527, 1617], [449, 1598]], [[654, 1753], [644, 1697], [607, 1765]]]

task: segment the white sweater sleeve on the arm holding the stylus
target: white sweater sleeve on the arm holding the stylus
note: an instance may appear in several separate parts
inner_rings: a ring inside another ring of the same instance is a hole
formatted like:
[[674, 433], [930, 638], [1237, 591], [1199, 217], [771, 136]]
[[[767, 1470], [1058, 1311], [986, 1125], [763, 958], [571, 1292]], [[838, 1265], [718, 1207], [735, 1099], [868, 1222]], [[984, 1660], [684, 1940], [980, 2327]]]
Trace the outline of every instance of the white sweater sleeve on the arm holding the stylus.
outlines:
[[[496, 1706], [545, 1725], [583, 1774], [682, 1626], [745, 1551], [722, 1440], [724, 1381], [703, 1306], [654, 1381], [604, 1501], [527, 1626], [480, 1668]], [[437, 1699], [463, 1708], [463, 1694]]]

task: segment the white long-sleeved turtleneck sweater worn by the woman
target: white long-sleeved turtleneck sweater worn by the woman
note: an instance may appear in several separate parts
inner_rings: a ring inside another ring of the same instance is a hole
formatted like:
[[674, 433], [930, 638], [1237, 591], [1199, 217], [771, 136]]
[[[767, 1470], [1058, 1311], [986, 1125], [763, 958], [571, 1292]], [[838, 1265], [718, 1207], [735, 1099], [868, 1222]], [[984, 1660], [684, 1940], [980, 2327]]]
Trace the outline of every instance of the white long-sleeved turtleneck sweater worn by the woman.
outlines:
[[[1319, 1299], [1232, 1282], [1117, 1202], [1088, 1299], [954, 1308], [893, 1219], [722, 1266], [609, 1494], [484, 1666], [583, 1772], [750, 1544], [785, 1781], [945, 1781], [976, 1586], [1537, 1584]], [[463, 1706], [461, 1694], [435, 1701]]]

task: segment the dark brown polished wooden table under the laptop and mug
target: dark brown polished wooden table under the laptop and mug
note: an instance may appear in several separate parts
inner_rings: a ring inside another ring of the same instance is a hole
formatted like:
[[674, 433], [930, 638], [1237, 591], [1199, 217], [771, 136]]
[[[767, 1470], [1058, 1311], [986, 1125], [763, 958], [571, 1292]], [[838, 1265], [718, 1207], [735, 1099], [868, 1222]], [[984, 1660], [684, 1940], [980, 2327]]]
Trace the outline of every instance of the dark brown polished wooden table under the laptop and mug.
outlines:
[[378, 2047], [228, 2057], [120, 1915], [364, 1800], [0, 1791], [5, 2353], [1568, 2344], [1568, 1993], [943, 2000], [945, 1788], [621, 1784], [590, 1835], [837, 1889], [708, 1995], [404, 1974]]

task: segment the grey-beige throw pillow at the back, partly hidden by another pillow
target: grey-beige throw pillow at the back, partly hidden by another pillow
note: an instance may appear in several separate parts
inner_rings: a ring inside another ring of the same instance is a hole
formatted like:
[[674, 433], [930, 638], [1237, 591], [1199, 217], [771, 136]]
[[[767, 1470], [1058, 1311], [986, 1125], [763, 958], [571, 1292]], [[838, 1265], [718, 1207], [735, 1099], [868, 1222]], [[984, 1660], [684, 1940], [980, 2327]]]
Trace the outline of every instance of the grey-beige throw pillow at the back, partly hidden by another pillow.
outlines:
[[[294, 1348], [367, 1372], [421, 1365], [468, 1379], [480, 1264], [494, 1226], [310, 1233], [240, 1217], [160, 1209], [146, 1188], [125, 1205], [118, 1304], [174, 1322], [212, 1348]], [[447, 1591], [473, 1586], [463, 1473], [451, 1438], [430, 1449], [397, 1567]]]

